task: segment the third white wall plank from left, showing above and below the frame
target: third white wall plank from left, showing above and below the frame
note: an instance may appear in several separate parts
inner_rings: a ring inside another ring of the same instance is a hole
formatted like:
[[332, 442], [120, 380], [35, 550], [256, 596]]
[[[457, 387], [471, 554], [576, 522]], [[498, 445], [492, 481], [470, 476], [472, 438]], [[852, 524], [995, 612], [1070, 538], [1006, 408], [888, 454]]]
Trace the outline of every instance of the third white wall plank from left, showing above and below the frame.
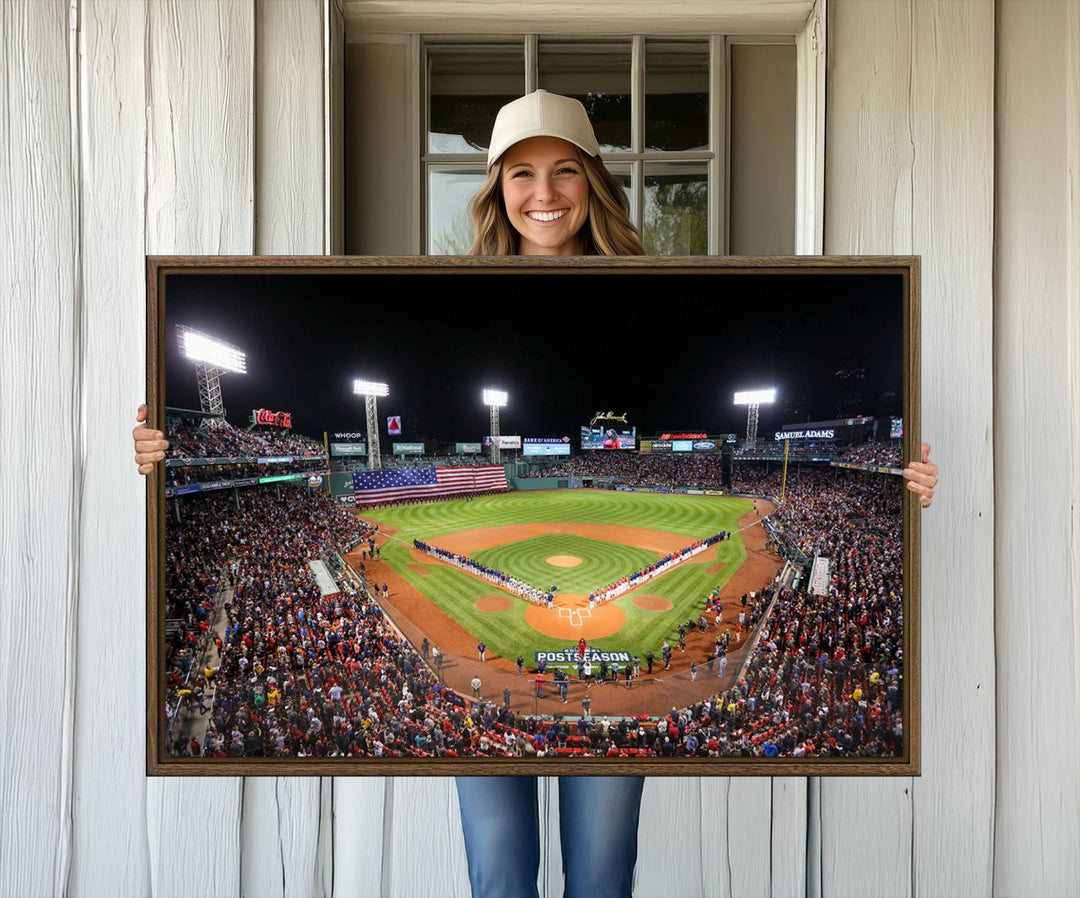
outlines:
[[[253, 193], [254, 3], [148, 6], [146, 250], [247, 254]], [[148, 780], [156, 896], [241, 894], [244, 782]]]

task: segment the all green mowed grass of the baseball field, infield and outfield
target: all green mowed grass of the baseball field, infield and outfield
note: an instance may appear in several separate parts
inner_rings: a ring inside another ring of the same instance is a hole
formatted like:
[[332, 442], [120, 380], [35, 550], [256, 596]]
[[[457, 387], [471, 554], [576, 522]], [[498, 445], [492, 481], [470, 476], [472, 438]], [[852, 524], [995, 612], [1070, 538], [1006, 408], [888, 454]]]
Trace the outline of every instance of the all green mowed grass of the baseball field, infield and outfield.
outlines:
[[[477, 642], [487, 643], [492, 654], [510, 659], [522, 654], [531, 664], [534, 652], [565, 648], [571, 641], [534, 630], [525, 620], [529, 603], [515, 595], [511, 595], [513, 601], [507, 611], [476, 611], [473, 603], [477, 599], [500, 592], [494, 584], [438, 563], [423, 565], [427, 575], [411, 569], [408, 565], [415, 562], [409, 549], [414, 539], [437, 542], [440, 536], [461, 531], [541, 522], [620, 524], [663, 531], [685, 537], [685, 542], [680, 540], [679, 545], [719, 531], [733, 532], [731, 539], [719, 545], [719, 561], [726, 564], [718, 574], [706, 573], [715, 563], [712, 561], [685, 563], [638, 590], [621, 595], [616, 605], [625, 614], [622, 630], [590, 641], [600, 649], [625, 651], [644, 658], [649, 649], [659, 655], [661, 643], [674, 636], [680, 621], [691, 616], [697, 618], [710, 590], [724, 586], [739, 569], [746, 558], [746, 549], [738, 534], [737, 522], [752, 507], [747, 499], [727, 496], [564, 490], [375, 509], [363, 517], [397, 530], [382, 544], [381, 555], [409, 584], [449, 614]], [[548, 558], [559, 554], [576, 555], [583, 563], [577, 567], [556, 567], [546, 562]], [[644, 567], [658, 554], [639, 547], [553, 533], [485, 549], [474, 558], [540, 588], [555, 584], [563, 592], [588, 594]], [[672, 602], [673, 608], [665, 614], [638, 608], [633, 598], [639, 593], [662, 595]]]

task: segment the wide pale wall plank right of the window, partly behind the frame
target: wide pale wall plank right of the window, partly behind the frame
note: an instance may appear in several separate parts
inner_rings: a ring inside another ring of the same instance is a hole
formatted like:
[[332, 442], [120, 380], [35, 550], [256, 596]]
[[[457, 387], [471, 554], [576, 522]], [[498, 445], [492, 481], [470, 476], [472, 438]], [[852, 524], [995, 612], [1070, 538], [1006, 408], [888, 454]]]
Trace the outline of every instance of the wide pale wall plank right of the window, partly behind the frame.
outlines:
[[[821, 781], [823, 895], [986, 895], [994, 810], [994, 6], [829, 3], [827, 253], [922, 256], [922, 776]], [[869, 834], [873, 833], [873, 836]]]

